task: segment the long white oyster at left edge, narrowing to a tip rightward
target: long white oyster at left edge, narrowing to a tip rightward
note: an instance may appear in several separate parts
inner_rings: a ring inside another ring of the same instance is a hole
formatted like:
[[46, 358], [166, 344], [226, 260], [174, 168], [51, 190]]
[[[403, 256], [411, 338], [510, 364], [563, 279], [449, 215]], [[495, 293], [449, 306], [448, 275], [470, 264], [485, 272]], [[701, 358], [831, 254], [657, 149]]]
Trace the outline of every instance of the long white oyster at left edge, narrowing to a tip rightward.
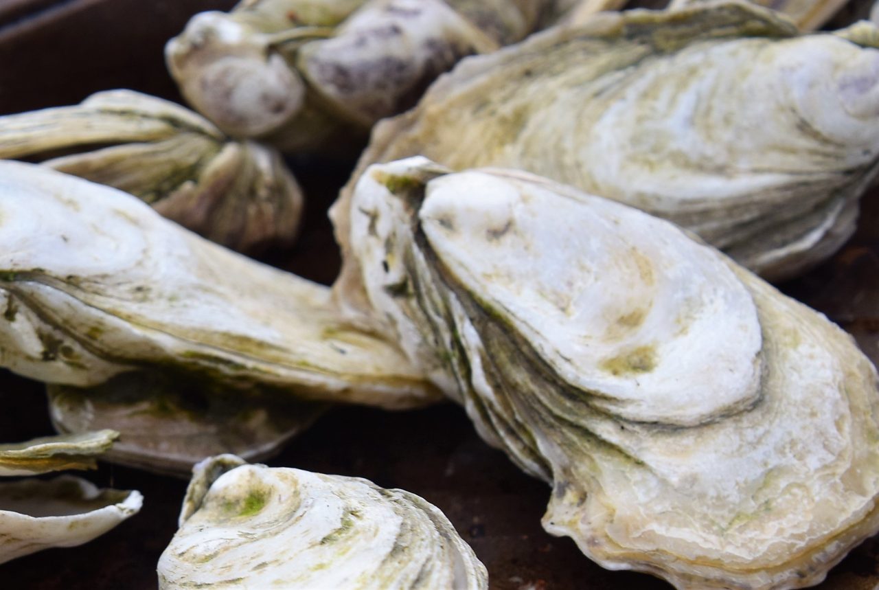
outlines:
[[438, 394], [396, 345], [338, 318], [328, 288], [245, 259], [142, 201], [0, 162], [0, 357], [88, 387], [134, 368], [410, 407]]

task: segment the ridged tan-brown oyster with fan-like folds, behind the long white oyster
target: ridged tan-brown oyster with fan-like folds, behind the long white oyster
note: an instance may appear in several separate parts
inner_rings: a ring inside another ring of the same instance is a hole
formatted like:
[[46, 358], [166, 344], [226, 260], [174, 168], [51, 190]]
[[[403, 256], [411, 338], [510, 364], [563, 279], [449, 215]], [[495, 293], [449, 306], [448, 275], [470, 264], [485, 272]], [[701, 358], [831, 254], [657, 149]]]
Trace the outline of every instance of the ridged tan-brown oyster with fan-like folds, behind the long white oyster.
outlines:
[[0, 117], [0, 157], [115, 186], [240, 251], [292, 244], [302, 196], [280, 155], [233, 142], [207, 120], [133, 91]]

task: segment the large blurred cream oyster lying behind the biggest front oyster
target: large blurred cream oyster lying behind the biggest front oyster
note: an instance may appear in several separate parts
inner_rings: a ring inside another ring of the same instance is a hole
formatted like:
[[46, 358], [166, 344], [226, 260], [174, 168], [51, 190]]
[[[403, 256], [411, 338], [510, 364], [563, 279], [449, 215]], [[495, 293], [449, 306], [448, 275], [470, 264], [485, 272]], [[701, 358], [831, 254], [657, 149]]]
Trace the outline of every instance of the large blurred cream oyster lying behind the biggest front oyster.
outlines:
[[877, 170], [879, 52], [852, 40], [749, 4], [605, 13], [462, 62], [375, 127], [352, 183], [418, 154], [520, 168], [791, 276], [852, 233]]

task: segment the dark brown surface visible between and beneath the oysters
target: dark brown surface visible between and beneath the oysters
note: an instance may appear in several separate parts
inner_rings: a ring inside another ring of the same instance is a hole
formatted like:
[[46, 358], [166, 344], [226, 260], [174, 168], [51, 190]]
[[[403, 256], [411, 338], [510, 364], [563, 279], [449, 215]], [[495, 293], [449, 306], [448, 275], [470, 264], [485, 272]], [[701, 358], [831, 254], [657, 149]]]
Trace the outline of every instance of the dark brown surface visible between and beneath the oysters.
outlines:
[[[175, 98], [164, 74], [163, 42], [186, 15], [232, 2], [207, 0], [0, 0], [0, 113], [74, 103], [93, 91], [127, 87]], [[36, 11], [34, 12], [28, 12]], [[27, 15], [31, 14], [30, 17]], [[349, 163], [350, 165], [350, 163]], [[338, 252], [325, 208], [345, 181], [346, 165], [295, 163], [309, 194], [304, 233], [293, 251], [270, 261], [330, 282]], [[784, 289], [823, 310], [879, 358], [879, 193], [868, 196], [861, 230], [831, 262]], [[42, 387], [0, 373], [0, 440], [51, 432]], [[488, 448], [452, 405], [418, 412], [363, 408], [332, 412], [272, 462], [372, 479], [418, 493], [439, 506], [487, 565], [501, 590], [670, 588], [657, 579], [607, 572], [569, 539], [544, 533], [548, 487], [522, 475]], [[156, 587], [156, 561], [176, 530], [185, 482], [103, 465], [101, 485], [138, 489], [144, 508], [82, 547], [47, 550], [0, 565], [0, 588], [104, 590]], [[879, 581], [879, 539], [855, 550], [819, 588], [867, 590]]]

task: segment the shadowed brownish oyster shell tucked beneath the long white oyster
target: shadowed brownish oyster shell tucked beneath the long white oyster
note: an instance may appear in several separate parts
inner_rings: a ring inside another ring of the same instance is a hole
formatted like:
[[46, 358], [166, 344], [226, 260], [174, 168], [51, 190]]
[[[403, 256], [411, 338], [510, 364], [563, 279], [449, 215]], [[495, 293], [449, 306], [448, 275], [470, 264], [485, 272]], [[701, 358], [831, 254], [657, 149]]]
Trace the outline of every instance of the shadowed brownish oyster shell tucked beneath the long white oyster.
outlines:
[[[158, 370], [123, 373], [86, 389], [50, 385], [48, 394], [60, 432], [105, 426], [120, 431], [105, 461], [186, 477], [211, 455], [266, 459], [327, 409], [290, 399], [283, 391], [236, 390]], [[2, 459], [0, 452], [0, 465]]]

